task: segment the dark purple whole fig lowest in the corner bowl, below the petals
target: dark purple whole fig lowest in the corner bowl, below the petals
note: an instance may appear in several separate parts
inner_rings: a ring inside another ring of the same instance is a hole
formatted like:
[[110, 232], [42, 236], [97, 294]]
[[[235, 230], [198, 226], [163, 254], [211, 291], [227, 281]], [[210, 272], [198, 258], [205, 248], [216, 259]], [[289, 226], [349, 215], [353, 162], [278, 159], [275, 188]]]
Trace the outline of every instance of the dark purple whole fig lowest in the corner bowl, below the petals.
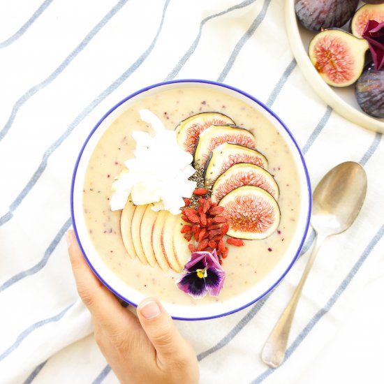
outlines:
[[384, 70], [376, 71], [371, 64], [355, 85], [360, 108], [373, 117], [384, 117]]

